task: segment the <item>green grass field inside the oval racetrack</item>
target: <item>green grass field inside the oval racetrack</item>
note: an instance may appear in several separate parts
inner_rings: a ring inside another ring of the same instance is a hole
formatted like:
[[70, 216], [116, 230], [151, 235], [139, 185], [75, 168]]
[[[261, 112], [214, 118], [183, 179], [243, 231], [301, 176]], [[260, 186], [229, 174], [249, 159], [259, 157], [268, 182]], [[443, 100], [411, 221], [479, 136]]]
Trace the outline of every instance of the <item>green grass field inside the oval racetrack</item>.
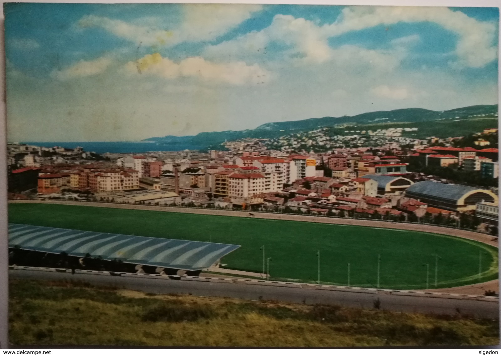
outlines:
[[[262, 272], [271, 257], [273, 279], [423, 289], [473, 284], [497, 278], [497, 248], [440, 234], [385, 228], [267, 220], [252, 217], [115, 208], [10, 204], [9, 222], [136, 236], [238, 244], [225, 267]], [[438, 255], [438, 257], [435, 257]], [[435, 269], [435, 265], [437, 268]], [[480, 273], [479, 273], [480, 270]]]

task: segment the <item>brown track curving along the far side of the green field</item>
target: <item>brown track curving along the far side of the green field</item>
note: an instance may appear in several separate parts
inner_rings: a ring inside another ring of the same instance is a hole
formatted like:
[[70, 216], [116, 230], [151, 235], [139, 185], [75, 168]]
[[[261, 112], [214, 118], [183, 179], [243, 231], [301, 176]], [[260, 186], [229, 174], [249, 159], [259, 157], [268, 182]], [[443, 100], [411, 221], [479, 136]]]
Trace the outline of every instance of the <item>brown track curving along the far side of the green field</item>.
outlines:
[[197, 208], [184, 208], [184, 207], [167, 207], [167, 206], [150, 206], [150, 205], [126, 205], [126, 204], [113, 204], [113, 203], [103, 203], [103, 202], [78, 202], [78, 201], [61, 201], [61, 200], [47, 200], [47, 201], [34, 201], [34, 200], [18, 200], [9, 201], [9, 203], [43, 203], [43, 204], [57, 204], [57, 205], [76, 205], [76, 206], [94, 206], [94, 207], [108, 207], [108, 208], [119, 208], [127, 210], [146, 210], [146, 211], [165, 211], [165, 212], [180, 212], [180, 213], [195, 213], [200, 215], [217, 215], [217, 216], [233, 216], [233, 217], [248, 217], [248, 218], [264, 218], [269, 220], [284, 220], [284, 221], [302, 221], [302, 222], [316, 222], [316, 223], [330, 223], [330, 224], [344, 224], [351, 226], [365, 226], [365, 227], [376, 227], [376, 228], [391, 228], [391, 229], [403, 229], [409, 231], [419, 231], [419, 232], [430, 232], [446, 234], [455, 237], [461, 237], [466, 239], [476, 240], [485, 244], [498, 247], [498, 242], [492, 240], [492, 236], [463, 231], [460, 229], [452, 229], [439, 226], [428, 226], [421, 224], [408, 224], [408, 223], [394, 223], [386, 221], [366, 221], [366, 220], [354, 220], [354, 219], [343, 219], [343, 218], [327, 218], [327, 217], [316, 217], [316, 216], [304, 216], [304, 215], [288, 215], [280, 213], [263, 213], [263, 212], [253, 212], [254, 217], [249, 217], [248, 212], [243, 211], [231, 211], [231, 210], [216, 210], [216, 209], [197, 209]]

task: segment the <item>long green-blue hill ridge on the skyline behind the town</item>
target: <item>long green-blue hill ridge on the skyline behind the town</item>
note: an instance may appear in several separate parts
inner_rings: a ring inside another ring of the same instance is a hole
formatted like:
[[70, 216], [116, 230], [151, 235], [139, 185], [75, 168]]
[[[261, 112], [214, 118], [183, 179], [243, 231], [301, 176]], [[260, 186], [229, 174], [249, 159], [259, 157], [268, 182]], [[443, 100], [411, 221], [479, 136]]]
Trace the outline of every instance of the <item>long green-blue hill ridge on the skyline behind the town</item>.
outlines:
[[[475, 105], [455, 108], [447, 111], [433, 111], [423, 108], [404, 108], [391, 111], [366, 112], [355, 116], [309, 118], [298, 121], [270, 122], [262, 124], [255, 129], [242, 131], [202, 132], [197, 135], [177, 137], [167, 135], [152, 137], [145, 141], [155, 141], [164, 145], [187, 144], [210, 146], [241, 138], [275, 138], [294, 131], [314, 130], [337, 124], [375, 124], [391, 122], [423, 122], [447, 118], [468, 118], [473, 115], [489, 115], [497, 113], [497, 105]], [[471, 117], [474, 118], [474, 117]]]

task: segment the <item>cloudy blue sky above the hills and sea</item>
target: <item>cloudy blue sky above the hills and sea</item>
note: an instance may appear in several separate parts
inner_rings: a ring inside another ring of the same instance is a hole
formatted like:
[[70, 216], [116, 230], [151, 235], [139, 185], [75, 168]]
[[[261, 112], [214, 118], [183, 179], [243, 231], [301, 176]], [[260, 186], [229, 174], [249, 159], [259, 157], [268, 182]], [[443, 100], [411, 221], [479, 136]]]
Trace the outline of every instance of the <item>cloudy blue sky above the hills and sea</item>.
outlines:
[[497, 103], [496, 8], [7, 4], [10, 140]]

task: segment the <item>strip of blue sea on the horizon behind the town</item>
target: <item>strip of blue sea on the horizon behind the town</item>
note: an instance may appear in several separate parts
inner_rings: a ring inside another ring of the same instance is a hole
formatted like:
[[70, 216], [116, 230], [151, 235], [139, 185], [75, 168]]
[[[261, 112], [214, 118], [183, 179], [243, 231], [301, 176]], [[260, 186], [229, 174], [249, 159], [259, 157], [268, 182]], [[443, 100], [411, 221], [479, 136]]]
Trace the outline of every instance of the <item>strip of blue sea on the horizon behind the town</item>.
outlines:
[[156, 142], [22, 142], [29, 145], [42, 147], [60, 146], [74, 149], [81, 146], [85, 151], [93, 151], [98, 154], [104, 153], [146, 153], [148, 151], [180, 151], [180, 150], [200, 150], [203, 146], [196, 145], [175, 145], [162, 144]]

